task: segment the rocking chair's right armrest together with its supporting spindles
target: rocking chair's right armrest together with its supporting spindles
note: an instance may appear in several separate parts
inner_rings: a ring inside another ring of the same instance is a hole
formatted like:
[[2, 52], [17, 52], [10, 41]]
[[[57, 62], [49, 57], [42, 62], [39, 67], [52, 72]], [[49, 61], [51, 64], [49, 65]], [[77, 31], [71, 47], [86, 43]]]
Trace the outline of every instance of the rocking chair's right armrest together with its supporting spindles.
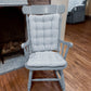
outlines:
[[60, 43], [62, 43], [62, 53], [61, 53], [62, 55], [64, 54], [64, 46], [67, 46], [65, 54], [63, 55], [63, 57], [66, 58], [68, 50], [69, 50], [69, 48], [73, 47], [73, 43], [72, 42], [66, 42], [66, 41], [63, 41], [63, 40], [60, 40]]

